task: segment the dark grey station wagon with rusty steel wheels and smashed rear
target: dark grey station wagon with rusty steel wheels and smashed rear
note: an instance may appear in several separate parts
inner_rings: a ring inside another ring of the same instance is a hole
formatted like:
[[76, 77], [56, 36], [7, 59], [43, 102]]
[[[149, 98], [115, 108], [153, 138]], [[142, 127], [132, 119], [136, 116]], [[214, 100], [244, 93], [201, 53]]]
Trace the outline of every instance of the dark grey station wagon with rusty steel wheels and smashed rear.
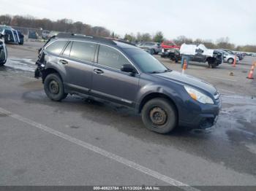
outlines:
[[78, 34], [51, 38], [39, 51], [35, 77], [48, 98], [68, 94], [129, 106], [146, 128], [168, 133], [176, 126], [210, 128], [217, 121], [219, 93], [201, 79], [167, 69], [129, 43]]

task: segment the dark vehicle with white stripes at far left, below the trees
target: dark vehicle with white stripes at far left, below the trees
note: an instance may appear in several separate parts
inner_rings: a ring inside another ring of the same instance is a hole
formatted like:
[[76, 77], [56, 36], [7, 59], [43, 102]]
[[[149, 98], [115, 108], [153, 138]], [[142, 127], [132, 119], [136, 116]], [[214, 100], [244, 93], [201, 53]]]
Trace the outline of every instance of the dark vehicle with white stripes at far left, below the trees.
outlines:
[[20, 31], [15, 30], [11, 26], [0, 26], [0, 32], [4, 35], [5, 43], [23, 44], [24, 35]]

